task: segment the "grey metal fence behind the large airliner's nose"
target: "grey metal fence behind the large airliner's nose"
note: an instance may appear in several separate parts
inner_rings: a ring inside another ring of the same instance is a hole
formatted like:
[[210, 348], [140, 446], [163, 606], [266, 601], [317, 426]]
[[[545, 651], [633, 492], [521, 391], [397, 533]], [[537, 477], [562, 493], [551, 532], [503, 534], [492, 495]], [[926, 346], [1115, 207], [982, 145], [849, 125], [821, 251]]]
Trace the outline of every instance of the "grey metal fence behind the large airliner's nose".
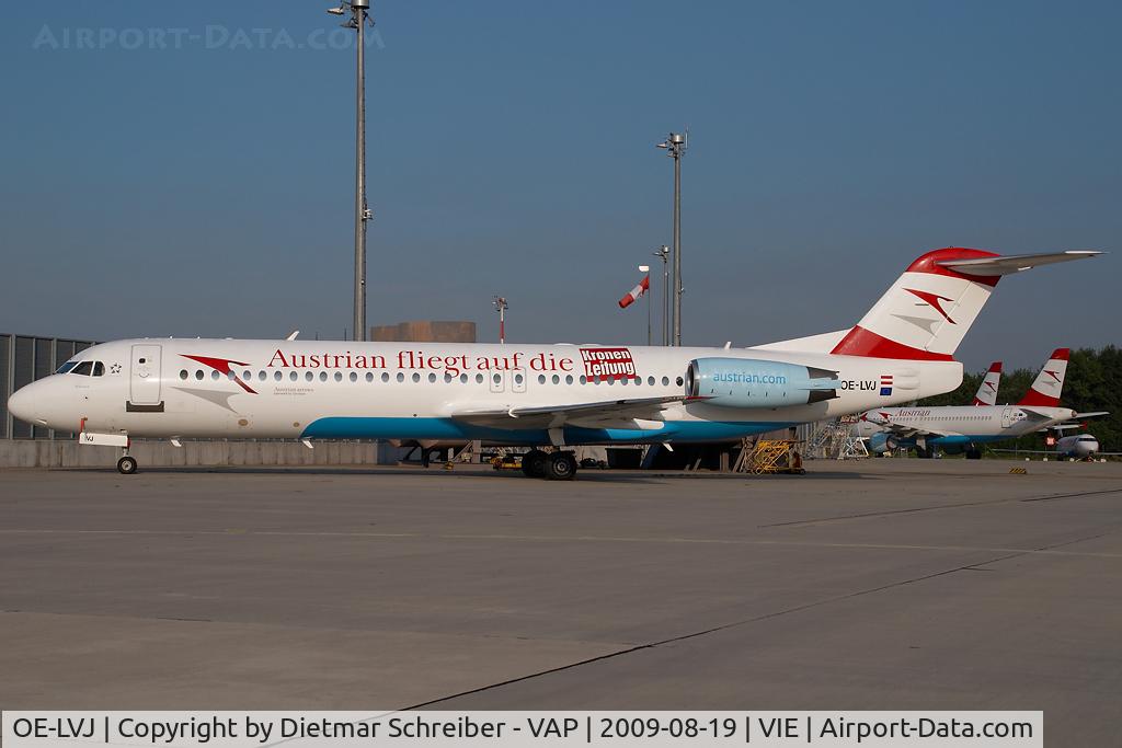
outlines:
[[0, 438], [71, 438], [43, 426], [17, 421], [8, 413], [8, 397], [24, 385], [49, 376], [64, 361], [94, 345], [89, 340], [35, 338], [0, 333]]

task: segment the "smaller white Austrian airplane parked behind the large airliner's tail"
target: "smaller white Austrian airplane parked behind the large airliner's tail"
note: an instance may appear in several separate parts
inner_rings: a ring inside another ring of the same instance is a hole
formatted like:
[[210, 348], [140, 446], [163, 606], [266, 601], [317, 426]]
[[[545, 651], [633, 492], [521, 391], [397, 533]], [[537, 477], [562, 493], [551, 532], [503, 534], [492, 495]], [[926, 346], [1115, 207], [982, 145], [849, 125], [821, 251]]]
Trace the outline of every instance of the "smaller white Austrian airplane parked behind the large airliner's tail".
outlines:
[[874, 408], [861, 415], [857, 433], [868, 437], [868, 450], [874, 454], [908, 446], [929, 458], [940, 447], [966, 452], [968, 459], [977, 460], [982, 444], [1055, 428], [1072, 418], [1103, 415], [1060, 407], [1068, 353], [1066, 348], [1054, 351], [1017, 405]]

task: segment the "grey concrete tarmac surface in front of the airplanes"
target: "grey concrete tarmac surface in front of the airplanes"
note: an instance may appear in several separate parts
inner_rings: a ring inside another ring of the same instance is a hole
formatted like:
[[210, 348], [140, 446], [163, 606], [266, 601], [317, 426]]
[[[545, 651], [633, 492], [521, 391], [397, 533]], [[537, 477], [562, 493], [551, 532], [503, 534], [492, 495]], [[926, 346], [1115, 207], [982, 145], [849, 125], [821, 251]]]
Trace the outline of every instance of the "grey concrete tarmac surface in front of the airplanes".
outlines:
[[808, 468], [0, 471], [0, 708], [1042, 709], [1119, 745], [1122, 464]]

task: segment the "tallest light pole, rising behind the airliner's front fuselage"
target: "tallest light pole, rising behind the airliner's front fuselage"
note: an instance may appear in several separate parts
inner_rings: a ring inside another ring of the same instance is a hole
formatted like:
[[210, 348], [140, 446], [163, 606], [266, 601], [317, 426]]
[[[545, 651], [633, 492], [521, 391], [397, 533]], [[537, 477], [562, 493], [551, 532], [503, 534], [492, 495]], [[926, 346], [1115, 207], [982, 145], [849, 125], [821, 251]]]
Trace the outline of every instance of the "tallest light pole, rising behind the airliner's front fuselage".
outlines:
[[352, 28], [358, 36], [355, 66], [355, 340], [366, 340], [366, 222], [374, 214], [366, 203], [366, 46], [364, 30], [374, 26], [370, 0], [342, 0], [338, 8], [329, 8], [332, 16], [350, 19], [343, 27]]

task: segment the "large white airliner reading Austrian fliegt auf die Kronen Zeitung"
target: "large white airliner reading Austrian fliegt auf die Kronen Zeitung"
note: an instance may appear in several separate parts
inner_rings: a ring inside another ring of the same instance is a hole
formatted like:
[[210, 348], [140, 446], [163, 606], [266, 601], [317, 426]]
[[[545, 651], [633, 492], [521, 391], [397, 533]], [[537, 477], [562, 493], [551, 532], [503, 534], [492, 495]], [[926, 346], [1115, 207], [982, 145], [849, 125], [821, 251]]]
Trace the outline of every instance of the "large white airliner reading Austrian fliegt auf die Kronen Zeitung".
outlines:
[[953, 353], [1001, 276], [1097, 253], [935, 250], [854, 327], [741, 350], [123, 340], [8, 407], [121, 447], [122, 473], [137, 469], [131, 437], [478, 438], [559, 447], [534, 449], [523, 470], [564, 480], [568, 445], [733, 440], [949, 391], [963, 377]]

